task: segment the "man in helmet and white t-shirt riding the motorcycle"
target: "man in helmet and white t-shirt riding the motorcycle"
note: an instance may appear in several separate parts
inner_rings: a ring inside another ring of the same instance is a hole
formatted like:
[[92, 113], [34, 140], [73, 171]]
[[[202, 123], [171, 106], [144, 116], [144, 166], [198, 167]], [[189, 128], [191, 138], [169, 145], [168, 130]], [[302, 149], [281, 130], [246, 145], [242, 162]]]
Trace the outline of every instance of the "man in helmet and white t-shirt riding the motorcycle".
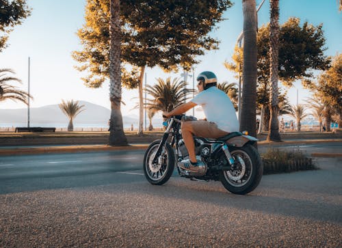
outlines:
[[205, 112], [207, 121], [182, 122], [181, 131], [185, 147], [189, 152], [189, 159], [181, 162], [181, 167], [189, 171], [196, 171], [202, 161], [196, 159], [194, 136], [217, 139], [228, 133], [239, 130], [239, 122], [235, 114], [233, 103], [228, 96], [216, 87], [218, 79], [213, 72], [202, 72], [197, 77], [198, 94], [189, 102], [183, 103], [170, 112], [164, 112], [167, 118], [180, 115], [196, 105], [200, 105]]

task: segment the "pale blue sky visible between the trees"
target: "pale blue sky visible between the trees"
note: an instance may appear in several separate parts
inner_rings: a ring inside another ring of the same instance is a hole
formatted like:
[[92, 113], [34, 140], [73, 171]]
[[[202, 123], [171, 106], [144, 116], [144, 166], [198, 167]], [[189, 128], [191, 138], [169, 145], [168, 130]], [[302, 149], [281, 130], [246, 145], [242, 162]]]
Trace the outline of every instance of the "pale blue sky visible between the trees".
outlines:
[[[224, 12], [226, 20], [219, 23], [211, 36], [221, 41], [220, 49], [207, 51], [198, 57], [194, 74], [204, 70], [215, 72], [219, 82], [237, 82], [233, 72], [224, 68], [224, 61], [233, 55], [237, 37], [242, 31], [243, 14], [241, 0]], [[257, 6], [261, 0], [257, 0]], [[0, 68], [11, 68], [16, 77], [23, 81], [20, 86], [28, 87], [28, 57], [30, 57], [30, 93], [34, 96], [31, 107], [55, 105], [64, 100], [86, 100], [110, 109], [109, 86], [104, 83], [98, 89], [88, 88], [81, 81], [81, 73], [74, 66], [77, 62], [71, 57], [73, 51], [80, 51], [82, 46], [76, 35], [84, 21], [86, 0], [27, 0], [32, 8], [31, 16], [22, 25], [14, 27], [8, 40], [8, 48], [0, 53]], [[280, 0], [280, 24], [291, 17], [299, 17], [302, 22], [313, 25], [323, 23], [326, 37], [326, 55], [342, 52], [342, 12], [338, 10], [337, 0]], [[269, 22], [269, 1], [266, 0], [258, 13], [259, 27]], [[181, 77], [177, 73], [166, 74], [161, 69], [146, 68], [148, 85], [154, 85], [157, 78]], [[188, 78], [192, 86], [192, 78]], [[145, 79], [144, 79], [145, 82]], [[304, 103], [304, 98], [311, 94], [303, 89], [300, 82], [295, 82], [289, 89], [290, 103]], [[137, 103], [137, 90], [122, 88], [123, 115], [138, 115], [133, 109]], [[21, 109], [27, 106], [22, 102], [7, 100], [0, 102], [0, 109]]]

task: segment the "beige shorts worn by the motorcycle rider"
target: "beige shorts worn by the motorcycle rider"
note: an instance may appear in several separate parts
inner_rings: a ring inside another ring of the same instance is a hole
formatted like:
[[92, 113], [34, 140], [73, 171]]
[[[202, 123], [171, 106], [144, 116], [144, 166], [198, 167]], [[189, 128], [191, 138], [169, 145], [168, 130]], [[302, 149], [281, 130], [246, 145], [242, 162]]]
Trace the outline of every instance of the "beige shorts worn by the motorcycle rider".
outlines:
[[191, 130], [193, 135], [198, 137], [217, 139], [223, 137], [224, 135], [228, 135], [226, 131], [218, 128], [217, 124], [214, 122], [207, 122], [206, 120], [182, 122], [181, 129], [185, 128], [184, 125], [189, 125], [187, 128]]

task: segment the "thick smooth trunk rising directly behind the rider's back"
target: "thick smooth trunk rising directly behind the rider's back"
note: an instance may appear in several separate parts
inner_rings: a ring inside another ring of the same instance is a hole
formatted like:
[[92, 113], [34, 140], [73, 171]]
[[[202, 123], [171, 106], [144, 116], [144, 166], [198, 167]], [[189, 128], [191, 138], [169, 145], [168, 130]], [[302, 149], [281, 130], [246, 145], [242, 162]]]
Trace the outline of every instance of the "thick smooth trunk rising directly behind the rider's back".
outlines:
[[242, 0], [244, 12], [244, 67], [240, 131], [257, 136], [257, 10], [255, 0]]

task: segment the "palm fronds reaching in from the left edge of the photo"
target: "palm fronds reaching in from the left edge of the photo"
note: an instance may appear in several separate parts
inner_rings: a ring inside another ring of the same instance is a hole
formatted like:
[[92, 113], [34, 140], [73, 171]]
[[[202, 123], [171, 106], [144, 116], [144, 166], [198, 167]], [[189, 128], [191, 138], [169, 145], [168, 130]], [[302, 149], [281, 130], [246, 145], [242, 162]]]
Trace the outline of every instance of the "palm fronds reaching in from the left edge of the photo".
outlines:
[[10, 85], [14, 81], [21, 83], [16, 77], [7, 76], [7, 73], [15, 74], [11, 69], [0, 69], [0, 102], [8, 99], [19, 100], [27, 105], [28, 99], [32, 98], [29, 94], [18, 87]]

